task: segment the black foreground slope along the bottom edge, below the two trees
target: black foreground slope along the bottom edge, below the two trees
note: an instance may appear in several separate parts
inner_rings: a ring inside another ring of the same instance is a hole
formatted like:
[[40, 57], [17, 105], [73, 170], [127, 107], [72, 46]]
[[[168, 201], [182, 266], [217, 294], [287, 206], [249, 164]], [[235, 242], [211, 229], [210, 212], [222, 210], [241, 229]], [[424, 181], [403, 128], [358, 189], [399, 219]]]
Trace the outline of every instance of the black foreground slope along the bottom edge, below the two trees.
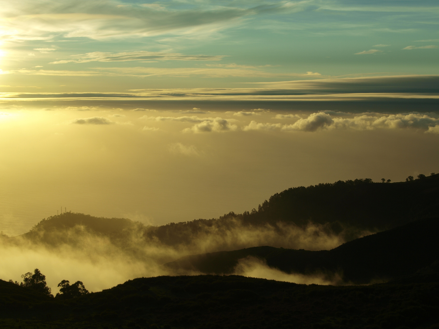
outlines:
[[438, 262], [371, 286], [160, 276], [57, 300], [0, 281], [3, 328], [437, 328]]

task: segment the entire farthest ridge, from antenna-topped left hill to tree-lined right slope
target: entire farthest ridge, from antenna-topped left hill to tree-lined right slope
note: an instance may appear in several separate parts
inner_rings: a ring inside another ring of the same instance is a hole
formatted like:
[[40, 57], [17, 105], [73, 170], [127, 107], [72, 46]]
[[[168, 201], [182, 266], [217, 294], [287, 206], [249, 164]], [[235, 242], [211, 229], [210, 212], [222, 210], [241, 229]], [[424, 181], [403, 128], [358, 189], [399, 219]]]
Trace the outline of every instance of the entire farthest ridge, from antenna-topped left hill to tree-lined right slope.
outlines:
[[[126, 218], [96, 218], [78, 213], [52, 216], [22, 235], [52, 245], [75, 243], [77, 234], [108, 237], [124, 245], [158, 243], [192, 250], [194, 241], [216, 240], [206, 251], [233, 250], [269, 244], [300, 247], [294, 228], [316, 227], [317, 236], [338, 236], [340, 243], [415, 219], [439, 215], [439, 174], [409, 182], [374, 183], [370, 179], [296, 187], [276, 193], [258, 210], [230, 212], [218, 219], [198, 219], [145, 226]], [[301, 234], [301, 233], [300, 233]], [[259, 240], [248, 240], [248, 236]], [[317, 243], [306, 249], [324, 249]]]

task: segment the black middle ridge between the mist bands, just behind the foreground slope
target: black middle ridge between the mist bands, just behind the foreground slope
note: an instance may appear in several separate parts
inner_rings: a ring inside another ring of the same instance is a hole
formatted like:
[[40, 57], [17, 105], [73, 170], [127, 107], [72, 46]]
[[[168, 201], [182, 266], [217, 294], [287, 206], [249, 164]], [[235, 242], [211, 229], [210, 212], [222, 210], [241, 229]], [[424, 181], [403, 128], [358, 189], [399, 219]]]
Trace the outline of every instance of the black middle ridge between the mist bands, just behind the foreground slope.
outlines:
[[332, 250], [292, 250], [252, 247], [182, 257], [165, 264], [174, 270], [231, 274], [242, 258], [253, 256], [287, 273], [335, 273], [357, 284], [409, 275], [439, 259], [439, 218], [416, 222], [356, 239]]

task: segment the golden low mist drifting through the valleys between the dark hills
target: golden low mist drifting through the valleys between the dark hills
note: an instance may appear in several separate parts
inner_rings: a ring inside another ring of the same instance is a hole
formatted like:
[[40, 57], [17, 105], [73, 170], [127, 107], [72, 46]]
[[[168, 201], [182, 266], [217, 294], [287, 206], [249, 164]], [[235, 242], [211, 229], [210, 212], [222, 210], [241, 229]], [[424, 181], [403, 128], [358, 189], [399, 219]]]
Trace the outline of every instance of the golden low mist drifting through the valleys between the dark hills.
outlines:
[[[123, 220], [124, 224], [118, 229], [102, 231], [87, 225], [86, 220], [91, 217], [84, 216], [69, 213], [54, 216], [40, 222], [27, 234], [0, 239], [0, 252], [3, 255], [0, 278], [20, 282], [22, 274], [39, 268], [46, 275], [52, 293], [58, 291], [57, 285], [63, 279], [70, 282], [80, 280], [88, 290], [99, 291], [136, 277], [201, 274], [162, 266], [191, 254], [263, 245], [328, 250], [345, 242], [343, 231], [336, 234], [327, 225], [313, 223], [303, 227], [284, 222], [249, 225], [242, 223], [239, 218], [227, 218], [222, 222], [194, 221], [145, 227]], [[75, 220], [70, 222], [70, 226], [58, 225], [72, 218]], [[104, 218], [92, 219], [105, 221]], [[362, 231], [357, 235], [370, 233]], [[335, 284], [341, 281], [339, 278], [327, 280], [318, 275], [287, 274], [269, 268], [257, 259], [241, 260], [235, 274], [307, 284]]]

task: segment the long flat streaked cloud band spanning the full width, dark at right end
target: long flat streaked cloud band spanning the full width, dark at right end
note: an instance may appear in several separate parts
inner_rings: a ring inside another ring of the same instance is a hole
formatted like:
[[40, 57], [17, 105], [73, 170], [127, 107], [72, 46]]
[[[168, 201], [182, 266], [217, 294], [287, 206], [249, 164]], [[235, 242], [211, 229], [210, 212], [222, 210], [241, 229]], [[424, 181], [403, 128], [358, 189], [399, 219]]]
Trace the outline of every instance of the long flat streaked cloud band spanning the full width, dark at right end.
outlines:
[[[2, 72], [0, 71], [0, 74]], [[300, 100], [439, 99], [439, 75], [395, 75], [252, 82], [245, 88], [130, 89], [126, 93], [0, 93], [0, 99]], [[252, 109], [252, 112], [266, 111]]]

